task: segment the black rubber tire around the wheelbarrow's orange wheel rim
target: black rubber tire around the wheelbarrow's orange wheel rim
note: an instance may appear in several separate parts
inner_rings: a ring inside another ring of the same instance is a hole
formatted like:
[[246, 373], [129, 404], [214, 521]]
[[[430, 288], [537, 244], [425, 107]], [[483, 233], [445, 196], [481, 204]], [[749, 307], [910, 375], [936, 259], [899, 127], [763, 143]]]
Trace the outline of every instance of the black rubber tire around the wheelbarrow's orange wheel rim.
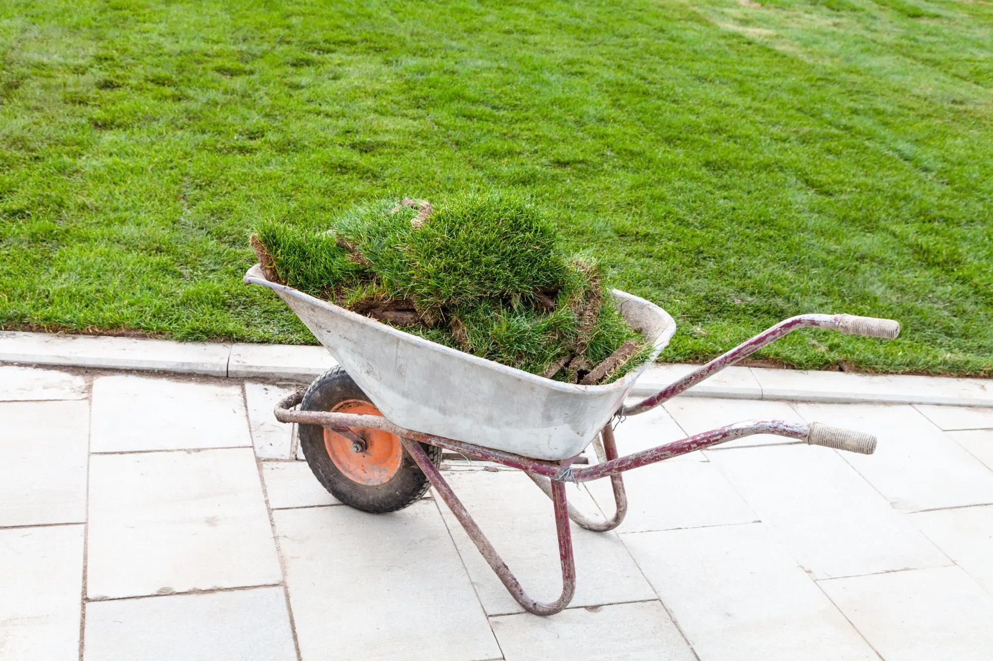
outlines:
[[[307, 388], [303, 401], [300, 402], [300, 410], [331, 411], [339, 402], [349, 399], [371, 403], [344, 368], [332, 367], [314, 379]], [[423, 443], [420, 446], [435, 465], [441, 464], [441, 448]], [[363, 512], [380, 514], [403, 509], [417, 502], [431, 486], [427, 475], [414, 462], [406, 448], [403, 449], [399, 469], [389, 481], [368, 485], [350, 479], [331, 460], [324, 445], [323, 427], [301, 425], [300, 447], [321, 485], [346, 505]]]

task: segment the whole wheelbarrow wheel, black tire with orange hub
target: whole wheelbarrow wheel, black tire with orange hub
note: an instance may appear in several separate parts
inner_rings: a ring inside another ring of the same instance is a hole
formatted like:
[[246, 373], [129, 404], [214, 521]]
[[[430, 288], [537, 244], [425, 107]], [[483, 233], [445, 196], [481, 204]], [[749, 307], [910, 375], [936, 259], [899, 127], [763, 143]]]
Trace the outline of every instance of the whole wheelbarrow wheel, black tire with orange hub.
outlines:
[[[381, 416], [342, 367], [314, 379], [301, 411], [332, 411]], [[431, 482], [395, 434], [352, 429], [347, 438], [318, 425], [300, 426], [300, 446], [314, 476], [332, 495], [363, 512], [393, 512], [413, 504]], [[435, 464], [441, 448], [421, 444]]]

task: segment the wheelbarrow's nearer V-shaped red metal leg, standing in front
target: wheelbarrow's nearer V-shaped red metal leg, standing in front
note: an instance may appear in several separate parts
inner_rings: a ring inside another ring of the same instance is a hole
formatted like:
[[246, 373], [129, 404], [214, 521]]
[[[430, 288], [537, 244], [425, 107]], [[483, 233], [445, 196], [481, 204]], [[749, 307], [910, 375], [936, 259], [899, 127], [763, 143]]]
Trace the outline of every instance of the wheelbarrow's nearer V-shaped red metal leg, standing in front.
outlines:
[[551, 603], [543, 603], [532, 599], [520, 587], [520, 584], [514, 578], [506, 563], [500, 559], [497, 549], [486, 538], [480, 527], [476, 525], [476, 521], [470, 516], [469, 511], [462, 504], [462, 501], [459, 500], [459, 497], [455, 495], [455, 491], [445, 481], [441, 471], [438, 470], [438, 466], [431, 463], [431, 460], [428, 459], [428, 456], [424, 453], [420, 445], [402, 436], [400, 437], [400, 441], [403, 442], [407, 452], [410, 453], [410, 456], [417, 465], [424, 471], [424, 474], [431, 480], [432, 486], [435, 487], [435, 490], [441, 495], [445, 504], [455, 514], [455, 518], [459, 519], [459, 523], [465, 528], [469, 538], [473, 540], [476, 548], [480, 550], [480, 553], [483, 554], [483, 557], [497, 574], [500, 583], [516, 599], [517, 603], [535, 615], [554, 615], [569, 605], [573, 593], [576, 592], [576, 563], [572, 554], [572, 531], [569, 528], [568, 503], [566, 502], [565, 484], [563, 482], [555, 481], [551, 485], [551, 499], [555, 507], [555, 527], [558, 531], [559, 561], [562, 564], [562, 595]]

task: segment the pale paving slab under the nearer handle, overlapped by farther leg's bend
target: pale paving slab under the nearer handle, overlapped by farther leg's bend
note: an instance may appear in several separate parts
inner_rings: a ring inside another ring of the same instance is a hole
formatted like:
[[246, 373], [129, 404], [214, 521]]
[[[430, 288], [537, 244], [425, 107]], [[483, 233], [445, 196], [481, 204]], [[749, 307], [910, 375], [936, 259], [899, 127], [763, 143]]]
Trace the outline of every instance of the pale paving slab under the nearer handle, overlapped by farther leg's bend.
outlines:
[[[624, 473], [628, 515], [618, 532], [750, 523], [759, 517], [714, 463], [665, 461]], [[614, 513], [609, 479], [587, 482], [605, 512]]]

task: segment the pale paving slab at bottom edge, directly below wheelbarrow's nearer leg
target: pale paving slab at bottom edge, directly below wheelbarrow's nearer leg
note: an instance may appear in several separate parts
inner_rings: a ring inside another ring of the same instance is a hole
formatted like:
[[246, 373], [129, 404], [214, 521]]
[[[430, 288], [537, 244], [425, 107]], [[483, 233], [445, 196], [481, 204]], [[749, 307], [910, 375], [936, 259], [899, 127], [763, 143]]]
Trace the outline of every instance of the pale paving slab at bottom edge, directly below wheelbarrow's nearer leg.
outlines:
[[659, 601], [491, 617], [506, 661], [695, 661]]

